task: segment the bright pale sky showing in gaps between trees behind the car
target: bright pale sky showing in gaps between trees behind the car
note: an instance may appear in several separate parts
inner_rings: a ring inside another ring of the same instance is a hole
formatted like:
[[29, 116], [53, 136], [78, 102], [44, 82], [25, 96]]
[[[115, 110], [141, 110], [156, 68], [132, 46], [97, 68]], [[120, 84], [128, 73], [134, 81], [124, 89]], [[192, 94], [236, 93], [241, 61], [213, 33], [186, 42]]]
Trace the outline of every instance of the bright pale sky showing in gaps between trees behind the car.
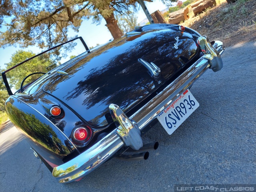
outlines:
[[[161, 0], [154, 0], [153, 2], [145, 2], [148, 11], [151, 13], [155, 12], [156, 10], [163, 10], [166, 8], [166, 6], [161, 2]], [[146, 15], [144, 14], [143, 10], [141, 7], [139, 7], [138, 12], [135, 13], [136, 16], [138, 17], [138, 23], [144, 18], [146, 18]], [[82, 25], [80, 26], [79, 32], [70, 32], [70, 36], [74, 36], [77, 34], [78, 36], [82, 36], [88, 47], [91, 46], [96, 46], [96, 44], [103, 44], [108, 42], [111, 38], [112, 35], [108, 31], [108, 28], [105, 26], [106, 22], [105, 20], [102, 20], [102, 22], [97, 25], [97, 24], [92, 24], [92, 20], [84, 20], [82, 22]], [[9, 46], [5, 49], [0, 48], [0, 67], [4, 68], [4, 64], [10, 62], [10, 58], [16, 50], [20, 50], [19, 46]], [[23, 48], [22, 50], [32, 50], [32, 52], [38, 54], [42, 52], [39, 48], [35, 46], [30, 46], [28, 48]], [[77, 53], [74, 54], [80, 54], [78, 51]]]

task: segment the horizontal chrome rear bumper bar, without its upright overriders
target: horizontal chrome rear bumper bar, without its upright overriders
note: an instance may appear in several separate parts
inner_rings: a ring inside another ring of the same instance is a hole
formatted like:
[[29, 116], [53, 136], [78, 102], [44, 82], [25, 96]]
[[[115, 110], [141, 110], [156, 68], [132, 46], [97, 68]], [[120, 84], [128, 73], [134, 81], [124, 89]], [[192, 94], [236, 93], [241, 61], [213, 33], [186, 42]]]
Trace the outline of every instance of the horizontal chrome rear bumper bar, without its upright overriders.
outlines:
[[[211, 50], [213, 49], [210, 49], [210, 51]], [[137, 123], [138, 128], [143, 130], [166, 106], [188, 89], [189, 86], [210, 68], [211, 65], [209, 63], [218, 61], [219, 57], [215, 49], [213, 53], [202, 56], [155, 98], [148, 102], [148, 104], [134, 113], [129, 118], [130, 121], [133, 122], [131, 120], [133, 119]], [[98, 168], [124, 146], [124, 142], [116, 132], [117, 128], [79, 156], [55, 167], [52, 175], [56, 177], [60, 183], [72, 182]]]

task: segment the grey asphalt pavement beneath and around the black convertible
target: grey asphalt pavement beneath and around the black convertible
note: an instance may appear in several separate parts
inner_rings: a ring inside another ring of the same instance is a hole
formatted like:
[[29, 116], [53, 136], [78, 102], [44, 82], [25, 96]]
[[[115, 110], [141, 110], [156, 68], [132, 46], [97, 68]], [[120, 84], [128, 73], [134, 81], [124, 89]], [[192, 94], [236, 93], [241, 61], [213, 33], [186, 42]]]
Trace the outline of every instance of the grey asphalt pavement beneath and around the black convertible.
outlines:
[[1, 192], [173, 191], [174, 184], [256, 184], [256, 42], [222, 54], [223, 69], [192, 86], [200, 106], [172, 134], [158, 123], [144, 143], [148, 160], [112, 159], [79, 182], [60, 184], [18, 130], [0, 132]]

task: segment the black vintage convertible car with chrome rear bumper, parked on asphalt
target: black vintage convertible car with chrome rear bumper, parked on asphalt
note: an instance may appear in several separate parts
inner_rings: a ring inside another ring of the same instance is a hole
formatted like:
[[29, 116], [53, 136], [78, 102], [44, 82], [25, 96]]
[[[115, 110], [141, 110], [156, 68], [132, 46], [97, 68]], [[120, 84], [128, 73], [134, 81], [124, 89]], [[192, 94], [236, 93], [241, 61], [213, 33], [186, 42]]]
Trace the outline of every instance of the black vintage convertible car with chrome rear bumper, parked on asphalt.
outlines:
[[86, 52], [29, 74], [15, 93], [6, 74], [24, 62], [2, 73], [10, 120], [62, 183], [113, 157], [147, 159], [158, 142], [143, 145], [141, 135], [156, 122], [172, 134], [199, 106], [192, 84], [222, 69], [222, 42], [179, 25], [139, 26], [91, 50], [82, 42]]

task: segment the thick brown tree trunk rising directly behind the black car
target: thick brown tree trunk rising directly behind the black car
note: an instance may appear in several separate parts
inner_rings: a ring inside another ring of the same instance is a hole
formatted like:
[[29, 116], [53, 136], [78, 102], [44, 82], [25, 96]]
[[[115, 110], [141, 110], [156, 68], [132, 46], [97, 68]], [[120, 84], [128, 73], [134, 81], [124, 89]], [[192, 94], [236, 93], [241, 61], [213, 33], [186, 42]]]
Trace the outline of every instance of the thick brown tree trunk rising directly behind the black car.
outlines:
[[108, 27], [108, 30], [110, 31], [111, 35], [114, 39], [120, 38], [123, 36], [122, 31], [117, 25], [117, 20], [114, 17], [114, 13], [110, 15], [110, 17], [103, 17], [106, 21], [106, 26]]

